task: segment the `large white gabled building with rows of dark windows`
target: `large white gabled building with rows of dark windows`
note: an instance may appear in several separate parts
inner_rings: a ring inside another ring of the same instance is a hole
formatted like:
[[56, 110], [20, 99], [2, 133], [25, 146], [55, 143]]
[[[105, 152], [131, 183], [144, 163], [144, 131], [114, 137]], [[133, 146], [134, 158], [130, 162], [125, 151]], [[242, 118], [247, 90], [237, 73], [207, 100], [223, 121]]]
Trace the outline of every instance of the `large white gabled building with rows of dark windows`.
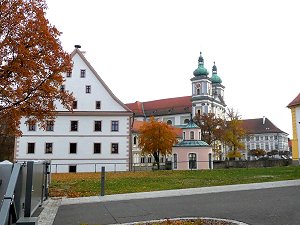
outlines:
[[51, 160], [52, 172], [126, 171], [131, 163], [132, 112], [107, 87], [83, 53], [71, 54], [62, 88], [73, 92], [73, 112], [57, 105], [46, 130], [21, 121], [15, 160]]

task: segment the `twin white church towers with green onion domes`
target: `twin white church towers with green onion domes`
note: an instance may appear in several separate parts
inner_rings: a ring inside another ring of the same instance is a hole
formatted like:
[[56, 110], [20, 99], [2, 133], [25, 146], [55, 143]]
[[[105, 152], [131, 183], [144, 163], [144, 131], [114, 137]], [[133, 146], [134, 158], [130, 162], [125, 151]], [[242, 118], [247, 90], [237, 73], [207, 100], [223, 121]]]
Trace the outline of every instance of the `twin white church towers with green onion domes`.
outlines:
[[224, 102], [224, 86], [217, 74], [217, 67], [214, 63], [212, 77], [204, 67], [202, 53], [198, 59], [198, 68], [194, 71], [192, 82], [192, 114], [214, 113], [218, 117], [223, 117], [226, 104]]

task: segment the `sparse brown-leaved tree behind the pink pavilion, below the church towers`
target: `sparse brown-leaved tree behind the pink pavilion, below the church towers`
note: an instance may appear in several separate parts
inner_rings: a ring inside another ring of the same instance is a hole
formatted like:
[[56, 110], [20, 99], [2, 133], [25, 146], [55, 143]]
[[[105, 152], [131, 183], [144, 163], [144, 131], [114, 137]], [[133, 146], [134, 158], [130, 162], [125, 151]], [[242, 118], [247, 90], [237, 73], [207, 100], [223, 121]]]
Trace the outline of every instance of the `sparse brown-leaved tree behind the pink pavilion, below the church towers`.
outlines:
[[216, 145], [217, 141], [221, 141], [224, 136], [224, 119], [216, 117], [214, 113], [197, 114], [194, 122], [201, 129], [201, 140], [209, 145], [213, 145], [214, 154], [221, 154], [221, 149]]

